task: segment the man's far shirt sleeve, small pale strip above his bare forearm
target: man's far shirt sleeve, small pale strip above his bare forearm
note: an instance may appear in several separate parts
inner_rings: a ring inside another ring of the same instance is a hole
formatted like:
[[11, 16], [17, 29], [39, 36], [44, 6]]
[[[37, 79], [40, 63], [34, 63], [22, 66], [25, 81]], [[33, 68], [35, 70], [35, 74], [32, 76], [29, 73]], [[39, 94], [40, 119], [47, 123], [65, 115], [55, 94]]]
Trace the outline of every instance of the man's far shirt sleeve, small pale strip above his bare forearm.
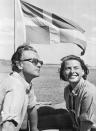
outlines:
[[37, 104], [36, 95], [34, 93], [34, 88], [32, 87], [29, 93], [28, 108], [33, 108], [36, 104]]

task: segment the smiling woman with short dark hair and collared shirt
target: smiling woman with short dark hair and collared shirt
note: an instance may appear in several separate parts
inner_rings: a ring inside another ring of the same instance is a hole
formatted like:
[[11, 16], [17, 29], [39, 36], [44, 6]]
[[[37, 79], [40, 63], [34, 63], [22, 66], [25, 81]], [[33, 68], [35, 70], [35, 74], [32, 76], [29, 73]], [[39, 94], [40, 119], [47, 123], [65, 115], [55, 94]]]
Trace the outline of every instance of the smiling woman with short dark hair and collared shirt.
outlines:
[[88, 73], [80, 57], [62, 58], [60, 78], [69, 82], [64, 98], [76, 131], [90, 131], [96, 124], [96, 87], [86, 80]]

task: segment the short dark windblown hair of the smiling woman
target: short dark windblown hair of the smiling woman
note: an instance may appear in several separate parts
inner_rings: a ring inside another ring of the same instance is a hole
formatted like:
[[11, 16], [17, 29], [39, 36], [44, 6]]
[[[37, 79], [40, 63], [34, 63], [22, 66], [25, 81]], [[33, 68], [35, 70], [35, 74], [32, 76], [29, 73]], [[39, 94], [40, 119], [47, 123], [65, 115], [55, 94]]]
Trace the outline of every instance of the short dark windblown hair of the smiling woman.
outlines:
[[63, 57], [61, 59], [62, 63], [61, 63], [61, 67], [60, 67], [60, 79], [66, 81], [66, 78], [64, 76], [64, 69], [65, 69], [65, 62], [68, 61], [68, 60], [77, 60], [77, 61], [80, 62], [81, 67], [84, 70], [84, 75], [82, 77], [86, 80], [87, 75], [89, 73], [89, 69], [85, 65], [84, 61], [80, 57], [75, 56], [75, 55], [69, 55], [69, 56]]

